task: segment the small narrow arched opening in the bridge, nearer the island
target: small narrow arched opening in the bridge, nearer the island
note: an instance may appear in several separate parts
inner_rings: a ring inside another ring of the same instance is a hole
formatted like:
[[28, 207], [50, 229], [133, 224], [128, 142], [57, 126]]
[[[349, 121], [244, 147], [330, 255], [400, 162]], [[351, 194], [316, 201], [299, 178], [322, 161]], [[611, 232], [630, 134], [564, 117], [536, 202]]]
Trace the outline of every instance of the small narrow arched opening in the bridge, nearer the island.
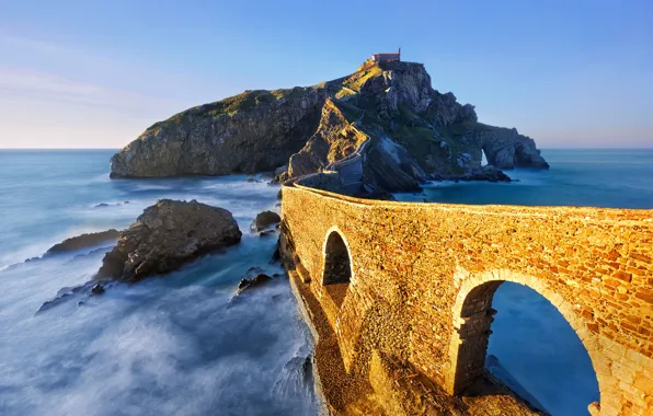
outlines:
[[324, 244], [324, 273], [322, 286], [340, 308], [352, 279], [350, 250], [340, 232], [331, 231]]

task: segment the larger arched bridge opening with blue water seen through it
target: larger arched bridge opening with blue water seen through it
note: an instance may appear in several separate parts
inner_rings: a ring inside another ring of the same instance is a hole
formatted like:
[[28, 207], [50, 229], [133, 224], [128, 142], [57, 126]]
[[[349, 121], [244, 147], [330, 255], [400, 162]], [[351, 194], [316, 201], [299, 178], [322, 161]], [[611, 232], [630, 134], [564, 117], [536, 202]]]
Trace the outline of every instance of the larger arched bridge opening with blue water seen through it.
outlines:
[[554, 305], [546, 289], [536, 291], [518, 277], [461, 290], [448, 388], [456, 394], [484, 394], [477, 382], [489, 370], [541, 411], [586, 414], [599, 400], [599, 383], [593, 351], [576, 335], [582, 321], [570, 316], [564, 300], [553, 298]]

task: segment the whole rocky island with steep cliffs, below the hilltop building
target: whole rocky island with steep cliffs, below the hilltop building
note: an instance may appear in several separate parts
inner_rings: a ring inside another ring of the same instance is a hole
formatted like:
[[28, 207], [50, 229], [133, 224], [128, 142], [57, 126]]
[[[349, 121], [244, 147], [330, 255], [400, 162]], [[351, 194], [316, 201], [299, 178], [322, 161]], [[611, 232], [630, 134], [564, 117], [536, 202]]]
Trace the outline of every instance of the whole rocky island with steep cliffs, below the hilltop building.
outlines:
[[480, 124], [472, 105], [434, 90], [422, 63], [366, 61], [314, 86], [245, 91], [179, 113], [116, 153], [111, 175], [288, 165], [288, 177], [335, 170], [344, 182], [396, 192], [480, 169], [482, 152], [500, 169], [549, 166], [532, 139]]

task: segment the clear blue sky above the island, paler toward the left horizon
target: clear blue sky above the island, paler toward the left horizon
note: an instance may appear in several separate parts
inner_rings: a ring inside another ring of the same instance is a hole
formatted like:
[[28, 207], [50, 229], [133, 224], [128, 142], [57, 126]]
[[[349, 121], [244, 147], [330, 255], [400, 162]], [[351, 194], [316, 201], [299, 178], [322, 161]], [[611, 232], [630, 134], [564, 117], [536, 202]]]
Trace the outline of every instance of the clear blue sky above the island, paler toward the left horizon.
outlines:
[[0, 148], [119, 148], [402, 48], [541, 148], [653, 147], [653, 2], [0, 0]]

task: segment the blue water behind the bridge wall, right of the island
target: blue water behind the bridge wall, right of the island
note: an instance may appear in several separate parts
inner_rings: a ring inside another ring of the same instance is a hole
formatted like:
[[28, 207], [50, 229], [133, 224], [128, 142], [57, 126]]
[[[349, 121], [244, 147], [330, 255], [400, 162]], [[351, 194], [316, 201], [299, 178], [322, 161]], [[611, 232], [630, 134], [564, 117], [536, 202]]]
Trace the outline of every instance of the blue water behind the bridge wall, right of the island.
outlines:
[[[506, 171], [518, 182], [436, 183], [433, 203], [653, 208], [653, 150], [543, 150], [551, 169]], [[405, 200], [422, 200], [405, 195]]]

